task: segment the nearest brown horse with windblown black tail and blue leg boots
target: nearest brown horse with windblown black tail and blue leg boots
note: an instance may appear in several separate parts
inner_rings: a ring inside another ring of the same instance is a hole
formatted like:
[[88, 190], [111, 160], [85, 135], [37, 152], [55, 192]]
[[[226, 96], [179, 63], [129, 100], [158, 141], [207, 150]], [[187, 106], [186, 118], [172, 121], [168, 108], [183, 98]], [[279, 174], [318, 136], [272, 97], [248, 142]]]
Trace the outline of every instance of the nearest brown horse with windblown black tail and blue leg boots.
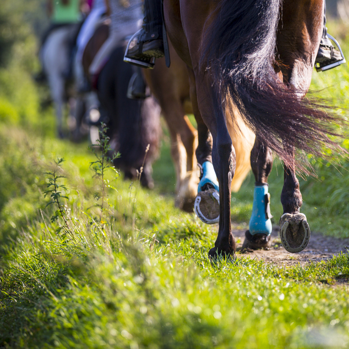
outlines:
[[206, 178], [219, 190], [220, 212], [209, 258], [236, 252], [230, 201], [237, 154], [228, 124], [238, 130], [238, 115], [256, 135], [254, 205], [245, 242], [254, 248], [270, 243], [273, 150], [284, 161], [281, 241], [287, 251], [300, 252], [310, 228], [300, 213], [296, 176], [297, 168], [307, 171], [306, 163], [300, 156], [296, 161], [296, 150], [319, 156], [321, 146], [338, 149], [328, 137], [335, 134], [335, 117], [304, 98], [323, 30], [323, 0], [164, 0], [163, 12], [169, 39], [194, 82], [197, 161], [214, 169], [219, 182], [212, 174]]

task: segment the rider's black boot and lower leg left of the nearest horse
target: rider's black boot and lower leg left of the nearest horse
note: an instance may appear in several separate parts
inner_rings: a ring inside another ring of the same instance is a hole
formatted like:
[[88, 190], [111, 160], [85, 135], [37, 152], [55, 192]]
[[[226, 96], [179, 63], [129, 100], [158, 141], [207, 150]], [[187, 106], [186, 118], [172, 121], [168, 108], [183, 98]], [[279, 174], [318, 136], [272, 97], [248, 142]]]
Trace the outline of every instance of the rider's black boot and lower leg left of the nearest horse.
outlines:
[[132, 37], [125, 58], [139, 61], [142, 65], [143, 62], [149, 62], [153, 57], [163, 57], [165, 54], [162, 34], [161, 0], [144, 0], [143, 26]]

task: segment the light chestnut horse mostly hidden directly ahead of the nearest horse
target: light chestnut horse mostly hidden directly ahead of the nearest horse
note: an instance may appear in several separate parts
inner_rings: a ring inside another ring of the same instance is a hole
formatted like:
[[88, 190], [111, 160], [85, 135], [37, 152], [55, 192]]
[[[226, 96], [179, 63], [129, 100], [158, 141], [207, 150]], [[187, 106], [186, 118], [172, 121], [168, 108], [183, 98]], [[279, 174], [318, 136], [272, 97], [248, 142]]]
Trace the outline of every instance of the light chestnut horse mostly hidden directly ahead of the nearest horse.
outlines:
[[[195, 150], [197, 130], [186, 114], [197, 113], [190, 101], [193, 91], [192, 80], [188, 76], [187, 65], [179, 58], [169, 42], [171, 66], [167, 68], [165, 58], [157, 60], [154, 69], [143, 69], [146, 82], [155, 96], [167, 123], [171, 139], [171, 156], [176, 174], [175, 206], [193, 212], [198, 191], [199, 177]], [[194, 103], [195, 105], [195, 103]], [[232, 180], [232, 191], [238, 191], [246, 175], [251, 170], [250, 152], [254, 144], [254, 133], [238, 119], [241, 132], [236, 132], [229, 124], [234, 147], [237, 149], [237, 170]]]

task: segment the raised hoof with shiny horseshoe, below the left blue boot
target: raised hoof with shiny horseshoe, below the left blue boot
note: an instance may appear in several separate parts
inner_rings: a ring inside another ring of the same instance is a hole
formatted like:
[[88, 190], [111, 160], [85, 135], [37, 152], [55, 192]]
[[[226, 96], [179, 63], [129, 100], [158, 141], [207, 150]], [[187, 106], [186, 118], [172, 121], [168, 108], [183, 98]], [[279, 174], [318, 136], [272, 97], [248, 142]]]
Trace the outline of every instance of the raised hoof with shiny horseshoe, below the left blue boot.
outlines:
[[215, 189], [200, 191], [194, 201], [196, 215], [206, 224], [219, 222], [219, 192]]

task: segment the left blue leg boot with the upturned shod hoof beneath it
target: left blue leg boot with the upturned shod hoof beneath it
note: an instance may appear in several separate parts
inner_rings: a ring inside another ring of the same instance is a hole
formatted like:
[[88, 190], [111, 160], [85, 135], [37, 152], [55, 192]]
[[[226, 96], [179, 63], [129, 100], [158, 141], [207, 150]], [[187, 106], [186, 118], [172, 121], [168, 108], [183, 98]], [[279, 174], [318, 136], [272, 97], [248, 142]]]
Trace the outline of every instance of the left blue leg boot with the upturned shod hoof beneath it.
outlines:
[[213, 165], [209, 161], [202, 164], [203, 175], [194, 202], [196, 215], [207, 224], [219, 222], [219, 184]]

